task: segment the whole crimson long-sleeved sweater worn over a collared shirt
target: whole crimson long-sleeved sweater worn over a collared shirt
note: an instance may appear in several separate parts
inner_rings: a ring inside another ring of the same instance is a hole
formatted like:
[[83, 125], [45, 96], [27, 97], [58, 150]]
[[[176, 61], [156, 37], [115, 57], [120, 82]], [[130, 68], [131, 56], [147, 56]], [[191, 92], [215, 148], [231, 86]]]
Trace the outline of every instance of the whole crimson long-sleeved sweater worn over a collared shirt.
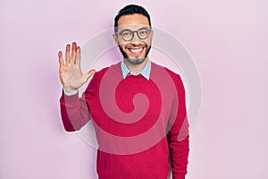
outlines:
[[169, 155], [173, 179], [184, 179], [188, 165], [188, 120], [180, 76], [152, 63], [150, 79], [128, 75], [113, 64], [94, 74], [79, 98], [60, 99], [66, 131], [92, 119], [99, 179], [166, 179]]

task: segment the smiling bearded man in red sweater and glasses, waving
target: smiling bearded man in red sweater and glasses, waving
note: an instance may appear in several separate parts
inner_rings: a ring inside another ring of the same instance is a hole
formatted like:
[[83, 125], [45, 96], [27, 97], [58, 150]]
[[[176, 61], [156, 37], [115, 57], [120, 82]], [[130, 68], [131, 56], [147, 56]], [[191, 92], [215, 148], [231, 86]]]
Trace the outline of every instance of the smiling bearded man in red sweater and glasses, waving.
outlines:
[[[121, 63], [84, 75], [76, 43], [67, 45], [65, 63], [59, 52], [63, 125], [73, 132], [93, 121], [99, 179], [166, 179], [170, 167], [173, 179], [187, 174], [185, 91], [178, 74], [148, 59], [153, 36], [147, 11], [130, 4], [114, 19]], [[91, 76], [79, 98], [78, 89]]]

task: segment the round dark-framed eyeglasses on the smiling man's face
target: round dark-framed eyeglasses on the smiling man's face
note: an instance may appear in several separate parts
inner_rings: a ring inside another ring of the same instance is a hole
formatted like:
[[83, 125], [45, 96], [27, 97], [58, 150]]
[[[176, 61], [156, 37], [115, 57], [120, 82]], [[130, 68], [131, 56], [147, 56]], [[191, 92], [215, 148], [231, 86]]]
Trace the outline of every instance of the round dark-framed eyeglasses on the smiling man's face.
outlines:
[[138, 38], [140, 39], [146, 39], [149, 37], [150, 35], [150, 32], [152, 30], [145, 27], [145, 28], [141, 28], [139, 30], [121, 30], [120, 32], [117, 32], [116, 34], [120, 34], [121, 35], [121, 38], [123, 38], [123, 40], [125, 41], [130, 41], [131, 39], [134, 38], [134, 33], [136, 32], [137, 35], [138, 35]]

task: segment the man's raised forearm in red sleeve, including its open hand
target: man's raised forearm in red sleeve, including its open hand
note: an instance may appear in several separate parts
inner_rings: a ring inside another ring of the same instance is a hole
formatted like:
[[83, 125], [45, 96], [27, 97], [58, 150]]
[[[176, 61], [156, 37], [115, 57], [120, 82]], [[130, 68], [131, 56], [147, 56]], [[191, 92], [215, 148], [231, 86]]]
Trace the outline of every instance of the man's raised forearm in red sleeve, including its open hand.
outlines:
[[[70, 55], [71, 51], [71, 55]], [[78, 92], [73, 95], [67, 95], [78, 89], [88, 81], [88, 79], [96, 72], [95, 70], [89, 71], [87, 74], [83, 74], [80, 70], [80, 47], [77, 47], [73, 42], [72, 46], [69, 44], [65, 50], [65, 62], [63, 61], [63, 52], [59, 52], [59, 73], [60, 79], [63, 84], [63, 89], [66, 94], [62, 94], [60, 99], [61, 115], [63, 119], [63, 125], [66, 131], [72, 132], [80, 130], [80, 128], [88, 123], [89, 112], [87, 100], [85, 94], [79, 98]], [[91, 82], [92, 84], [93, 82]], [[88, 90], [92, 92], [92, 90]]]

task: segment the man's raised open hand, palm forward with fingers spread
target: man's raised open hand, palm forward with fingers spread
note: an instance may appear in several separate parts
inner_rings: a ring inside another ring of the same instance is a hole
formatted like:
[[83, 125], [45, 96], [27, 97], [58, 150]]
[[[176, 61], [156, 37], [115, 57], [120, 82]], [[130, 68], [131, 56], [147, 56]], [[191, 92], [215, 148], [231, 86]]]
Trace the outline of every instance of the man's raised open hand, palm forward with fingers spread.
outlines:
[[[70, 56], [71, 50], [71, 56]], [[78, 90], [96, 72], [90, 70], [83, 74], [80, 69], [80, 47], [76, 43], [68, 44], [65, 50], [65, 63], [63, 62], [63, 52], [59, 52], [60, 79], [66, 92]]]

